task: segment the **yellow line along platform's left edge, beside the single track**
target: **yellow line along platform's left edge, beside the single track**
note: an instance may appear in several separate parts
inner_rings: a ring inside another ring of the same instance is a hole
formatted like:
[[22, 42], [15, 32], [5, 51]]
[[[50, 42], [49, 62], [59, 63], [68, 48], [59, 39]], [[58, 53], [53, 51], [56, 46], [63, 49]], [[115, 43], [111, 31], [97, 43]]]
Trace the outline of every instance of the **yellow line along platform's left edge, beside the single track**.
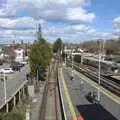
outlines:
[[75, 110], [74, 110], [74, 106], [72, 104], [72, 101], [71, 101], [71, 98], [70, 98], [70, 95], [69, 95], [69, 92], [68, 92], [68, 88], [66, 86], [66, 83], [65, 83], [65, 80], [64, 80], [64, 77], [63, 77], [62, 69], [61, 69], [60, 73], [61, 73], [60, 75], [61, 75], [62, 84], [63, 84], [64, 91], [65, 91], [65, 96], [66, 96], [66, 99], [68, 101], [68, 105], [69, 105], [70, 112], [72, 114], [72, 118], [73, 118], [73, 120], [77, 120], [77, 116], [76, 116], [76, 113], [75, 113]]

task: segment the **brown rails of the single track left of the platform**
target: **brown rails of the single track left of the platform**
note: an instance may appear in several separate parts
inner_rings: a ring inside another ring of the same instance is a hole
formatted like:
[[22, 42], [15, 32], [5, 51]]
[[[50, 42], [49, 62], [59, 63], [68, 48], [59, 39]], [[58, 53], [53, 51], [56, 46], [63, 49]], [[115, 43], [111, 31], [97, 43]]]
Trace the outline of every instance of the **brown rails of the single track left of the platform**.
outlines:
[[[39, 119], [40, 120], [45, 120], [45, 117], [46, 117], [46, 109], [47, 109], [47, 100], [48, 100], [48, 97], [49, 97], [49, 92], [50, 92], [50, 89], [52, 89], [52, 85], [54, 85], [54, 88], [53, 89], [53, 97], [54, 97], [54, 100], [55, 100], [55, 103], [54, 103], [54, 106], [55, 106], [55, 119], [58, 120], [58, 111], [57, 111], [57, 99], [56, 99], [56, 68], [57, 68], [57, 62], [54, 61], [54, 63], [52, 63], [52, 68], [51, 70], [49, 71], [48, 73], [48, 80], [46, 81], [46, 85], [45, 85], [45, 89], [44, 89], [44, 93], [43, 93], [43, 99], [42, 99], [42, 104], [41, 104], [41, 109], [40, 109], [40, 115], [39, 115]], [[55, 83], [53, 83], [53, 81]]]

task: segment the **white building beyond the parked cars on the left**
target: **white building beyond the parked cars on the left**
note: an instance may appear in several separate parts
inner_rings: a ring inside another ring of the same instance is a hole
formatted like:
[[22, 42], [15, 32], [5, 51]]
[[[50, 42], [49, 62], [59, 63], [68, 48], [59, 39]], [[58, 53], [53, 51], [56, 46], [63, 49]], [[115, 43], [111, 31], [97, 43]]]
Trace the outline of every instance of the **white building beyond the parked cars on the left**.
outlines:
[[16, 62], [23, 62], [24, 61], [24, 49], [15, 49], [15, 61]]

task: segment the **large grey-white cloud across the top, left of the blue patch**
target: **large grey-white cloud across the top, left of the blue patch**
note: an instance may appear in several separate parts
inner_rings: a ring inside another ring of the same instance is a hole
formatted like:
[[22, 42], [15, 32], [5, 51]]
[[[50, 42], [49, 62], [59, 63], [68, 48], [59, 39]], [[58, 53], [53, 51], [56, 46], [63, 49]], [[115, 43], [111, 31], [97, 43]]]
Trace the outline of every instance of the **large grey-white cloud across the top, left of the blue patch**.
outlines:
[[88, 5], [87, 0], [8, 0], [6, 7], [0, 10], [0, 16], [26, 13], [35, 19], [52, 22], [91, 23], [95, 14], [87, 13], [83, 8]]

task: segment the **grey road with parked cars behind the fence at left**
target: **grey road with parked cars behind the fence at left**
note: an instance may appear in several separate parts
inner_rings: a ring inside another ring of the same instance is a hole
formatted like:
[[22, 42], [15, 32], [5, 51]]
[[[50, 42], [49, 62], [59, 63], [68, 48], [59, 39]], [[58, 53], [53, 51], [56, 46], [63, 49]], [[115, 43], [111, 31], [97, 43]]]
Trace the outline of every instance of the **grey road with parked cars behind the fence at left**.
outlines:
[[[13, 74], [7, 75], [8, 79], [6, 81], [6, 93], [7, 100], [26, 82], [26, 73], [29, 72], [29, 65], [21, 68], [21, 71], [14, 72]], [[0, 83], [0, 106], [4, 104], [4, 84]]]

